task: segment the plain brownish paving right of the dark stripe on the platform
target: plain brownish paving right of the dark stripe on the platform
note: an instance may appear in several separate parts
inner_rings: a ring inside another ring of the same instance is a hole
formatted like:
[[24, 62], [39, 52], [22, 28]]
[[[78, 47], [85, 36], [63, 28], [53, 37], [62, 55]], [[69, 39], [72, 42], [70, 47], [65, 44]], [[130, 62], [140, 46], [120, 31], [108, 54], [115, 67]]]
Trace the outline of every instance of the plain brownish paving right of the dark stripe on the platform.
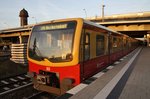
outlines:
[[150, 48], [143, 48], [119, 99], [150, 99]]

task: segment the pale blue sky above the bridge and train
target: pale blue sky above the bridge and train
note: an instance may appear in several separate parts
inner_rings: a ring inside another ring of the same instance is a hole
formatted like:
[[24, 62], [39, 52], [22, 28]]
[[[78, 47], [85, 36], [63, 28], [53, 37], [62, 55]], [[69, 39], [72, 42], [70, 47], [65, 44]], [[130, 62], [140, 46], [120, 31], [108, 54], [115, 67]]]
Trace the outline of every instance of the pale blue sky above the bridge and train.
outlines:
[[0, 0], [0, 29], [20, 26], [19, 12], [28, 11], [29, 24], [43, 21], [150, 11], [150, 0]]

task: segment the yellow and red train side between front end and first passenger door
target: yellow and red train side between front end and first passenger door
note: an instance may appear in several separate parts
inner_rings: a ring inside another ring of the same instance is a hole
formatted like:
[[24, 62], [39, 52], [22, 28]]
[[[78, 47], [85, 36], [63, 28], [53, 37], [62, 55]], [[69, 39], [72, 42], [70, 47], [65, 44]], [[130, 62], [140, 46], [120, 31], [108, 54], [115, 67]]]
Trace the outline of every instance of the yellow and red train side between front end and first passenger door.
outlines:
[[84, 24], [80, 48], [82, 80], [108, 66], [108, 31]]

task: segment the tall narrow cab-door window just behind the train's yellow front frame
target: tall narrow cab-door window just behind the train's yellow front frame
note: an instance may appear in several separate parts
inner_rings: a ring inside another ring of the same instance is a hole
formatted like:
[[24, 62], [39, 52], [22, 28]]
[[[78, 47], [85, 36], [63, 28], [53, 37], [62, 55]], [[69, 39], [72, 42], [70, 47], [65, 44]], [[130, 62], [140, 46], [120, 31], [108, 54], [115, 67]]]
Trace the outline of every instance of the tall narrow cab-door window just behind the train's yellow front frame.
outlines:
[[90, 59], [90, 34], [85, 33], [84, 36], [84, 60]]

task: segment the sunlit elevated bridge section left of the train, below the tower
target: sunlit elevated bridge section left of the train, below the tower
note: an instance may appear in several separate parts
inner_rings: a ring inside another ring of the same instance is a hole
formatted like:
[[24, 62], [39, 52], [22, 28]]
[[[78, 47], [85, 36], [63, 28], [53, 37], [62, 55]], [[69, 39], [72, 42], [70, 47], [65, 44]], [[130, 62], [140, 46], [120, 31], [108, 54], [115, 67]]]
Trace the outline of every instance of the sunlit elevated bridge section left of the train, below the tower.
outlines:
[[27, 43], [32, 25], [0, 30], [0, 47], [12, 43]]

